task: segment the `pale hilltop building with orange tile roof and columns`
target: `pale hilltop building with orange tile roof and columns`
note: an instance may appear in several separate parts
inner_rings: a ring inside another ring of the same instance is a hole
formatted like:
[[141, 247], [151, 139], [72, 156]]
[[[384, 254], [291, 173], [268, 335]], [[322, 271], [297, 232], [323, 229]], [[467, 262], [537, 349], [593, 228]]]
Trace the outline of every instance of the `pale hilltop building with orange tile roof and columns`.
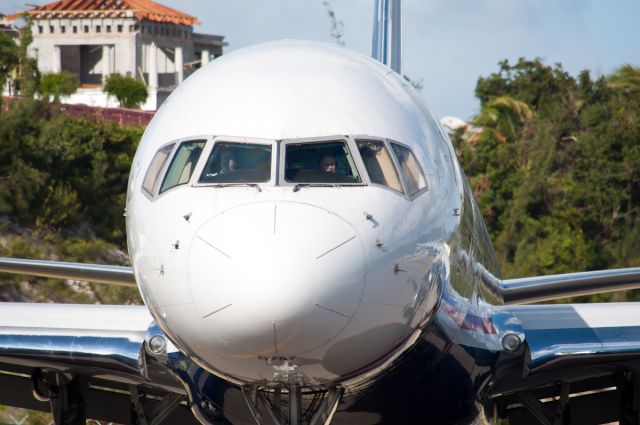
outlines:
[[117, 106], [102, 86], [119, 73], [147, 85], [143, 109], [155, 110], [193, 70], [222, 55], [225, 45], [223, 36], [194, 33], [197, 18], [151, 0], [59, 0], [26, 13], [40, 71], [66, 70], [80, 82], [67, 103]]

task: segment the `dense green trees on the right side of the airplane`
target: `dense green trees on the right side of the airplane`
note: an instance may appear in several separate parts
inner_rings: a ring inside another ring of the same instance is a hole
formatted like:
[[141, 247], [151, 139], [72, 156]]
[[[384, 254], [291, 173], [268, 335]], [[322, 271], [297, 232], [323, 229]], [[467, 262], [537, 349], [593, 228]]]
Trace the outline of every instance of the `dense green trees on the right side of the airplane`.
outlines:
[[504, 61], [476, 95], [454, 144], [505, 277], [639, 266], [640, 69]]

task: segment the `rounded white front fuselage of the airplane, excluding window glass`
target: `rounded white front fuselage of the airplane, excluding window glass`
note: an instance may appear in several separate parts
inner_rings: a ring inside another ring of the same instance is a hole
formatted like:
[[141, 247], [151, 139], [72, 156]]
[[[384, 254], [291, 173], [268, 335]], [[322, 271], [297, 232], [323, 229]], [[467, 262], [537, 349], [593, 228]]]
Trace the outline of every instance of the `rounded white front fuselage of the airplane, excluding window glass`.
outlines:
[[[405, 193], [372, 182], [363, 139], [410, 149], [426, 189], [408, 196], [404, 180]], [[145, 191], [156, 153], [189, 140], [206, 143], [188, 181]], [[287, 143], [323, 140], [349, 147], [359, 184], [287, 182]], [[269, 180], [201, 184], [221, 142], [270, 147]], [[436, 306], [428, 276], [433, 252], [449, 252], [461, 179], [450, 142], [387, 67], [319, 43], [244, 49], [186, 80], [145, 132], [127, 198], [136, 279], [176, 346], [218, 375], [357, 378], [402, 350]]]

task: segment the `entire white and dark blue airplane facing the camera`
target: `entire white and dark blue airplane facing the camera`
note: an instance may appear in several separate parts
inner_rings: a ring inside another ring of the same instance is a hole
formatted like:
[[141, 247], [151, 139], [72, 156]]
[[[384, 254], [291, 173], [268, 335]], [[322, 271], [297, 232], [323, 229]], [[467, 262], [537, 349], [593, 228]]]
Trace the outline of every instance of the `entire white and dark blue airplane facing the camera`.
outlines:
[[132, 267], [0, 271], [137, 286], [145, 306], [2, 303], [0, 403], [56, 424], [640, 423], [640, 268], [502, 280], [451, 141], [373, 58], [280, 41], [185, 80], [146, 129]]

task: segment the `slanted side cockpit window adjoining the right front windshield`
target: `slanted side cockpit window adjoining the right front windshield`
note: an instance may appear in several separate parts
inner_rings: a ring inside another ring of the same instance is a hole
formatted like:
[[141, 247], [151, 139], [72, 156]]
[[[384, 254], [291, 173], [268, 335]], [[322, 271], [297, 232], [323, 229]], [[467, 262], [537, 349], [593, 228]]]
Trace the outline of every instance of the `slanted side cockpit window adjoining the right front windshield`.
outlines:
[[357, 143], [371, 183], [381, 184], [402, 193], [398, 171], [384, 143], [379, 140], [358, 140]]

